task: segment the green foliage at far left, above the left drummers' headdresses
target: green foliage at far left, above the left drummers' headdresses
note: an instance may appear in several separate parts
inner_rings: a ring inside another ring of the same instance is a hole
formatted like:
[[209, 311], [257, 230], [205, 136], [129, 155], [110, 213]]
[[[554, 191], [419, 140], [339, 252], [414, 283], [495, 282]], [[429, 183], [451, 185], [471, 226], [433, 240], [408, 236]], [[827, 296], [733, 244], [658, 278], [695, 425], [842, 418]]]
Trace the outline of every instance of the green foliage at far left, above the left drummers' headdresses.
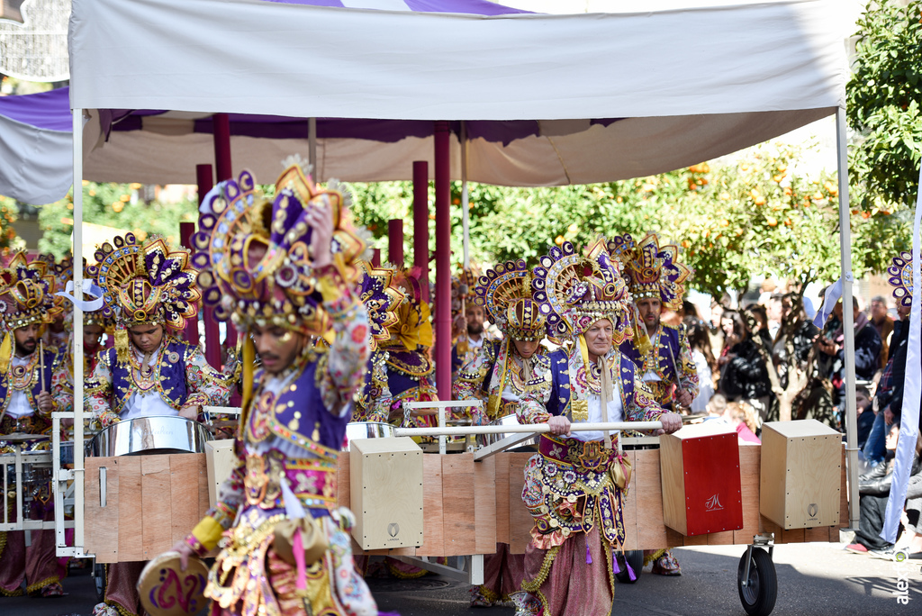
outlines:
[[[145, 201], [141, 184], [83, 183], [83, 220], [134, 231], [139, 238], [149, 233], [163, 235], [173, 246], [179, 246], [179, 223], [195, 221], [197, 207], [189, 200], [165, 204], [158, 200]], [[39, 213], [43, 231], [39, 252], [58, 258], [70, 253], [71, 235], [74, 232], [73, 194], [47, 206]]]

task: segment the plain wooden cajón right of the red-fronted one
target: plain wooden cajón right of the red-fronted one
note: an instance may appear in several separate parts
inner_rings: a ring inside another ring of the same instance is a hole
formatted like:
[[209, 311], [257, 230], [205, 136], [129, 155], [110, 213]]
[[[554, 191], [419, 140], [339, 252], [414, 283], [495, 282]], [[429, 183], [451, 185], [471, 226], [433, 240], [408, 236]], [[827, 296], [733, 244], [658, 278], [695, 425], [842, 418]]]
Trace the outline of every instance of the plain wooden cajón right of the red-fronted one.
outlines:
[[783, 527], [839, 523], [842, 434], [816, 420], [762, 424], [759, 511]]

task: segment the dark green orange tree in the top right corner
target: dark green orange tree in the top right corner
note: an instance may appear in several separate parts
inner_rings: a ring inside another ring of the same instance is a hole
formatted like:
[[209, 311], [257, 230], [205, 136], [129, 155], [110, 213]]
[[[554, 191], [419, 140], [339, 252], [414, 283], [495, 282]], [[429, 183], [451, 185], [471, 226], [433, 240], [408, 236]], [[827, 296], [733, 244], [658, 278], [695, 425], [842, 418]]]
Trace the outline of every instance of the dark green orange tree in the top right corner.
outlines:
[[912, 204], [922, 157], [922, 4], [870, 3], [857, 21], [857, 61], [846, 117], [859, 139], [849, 171], [856, 202], [872, 211]]

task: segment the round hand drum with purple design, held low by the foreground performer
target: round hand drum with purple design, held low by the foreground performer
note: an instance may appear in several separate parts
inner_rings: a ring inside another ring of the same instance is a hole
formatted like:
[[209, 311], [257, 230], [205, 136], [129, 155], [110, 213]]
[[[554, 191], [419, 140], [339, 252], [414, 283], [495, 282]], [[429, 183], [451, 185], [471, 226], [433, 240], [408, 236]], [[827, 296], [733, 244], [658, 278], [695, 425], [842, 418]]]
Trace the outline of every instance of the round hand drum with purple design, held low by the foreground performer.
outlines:
[[150, 561], [137, 582], [141, 604], [151, 616], [193, 616], [207, 604], [208, 568], [195, 557], [180, 571], [179, 552], [168, 551]]

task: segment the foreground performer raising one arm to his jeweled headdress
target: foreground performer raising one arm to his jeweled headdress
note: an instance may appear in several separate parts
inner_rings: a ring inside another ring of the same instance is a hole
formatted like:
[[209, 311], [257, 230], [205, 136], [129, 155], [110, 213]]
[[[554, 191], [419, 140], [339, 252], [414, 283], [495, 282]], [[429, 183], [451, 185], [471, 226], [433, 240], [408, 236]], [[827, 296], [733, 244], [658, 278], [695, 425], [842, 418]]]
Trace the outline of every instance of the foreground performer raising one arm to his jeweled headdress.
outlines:
[[[213, 613], [372, 616], [377, 606], [349, 547], [354, 518], [337, 507], [336, 488], [349, 402], [369, 353], [369, 321], [354, 292], [364, 244], [351, 231], [342, 195], [318, 189], [297, 164], [276, 191], [267, 202], [243, 172], [240, 184], [219, 184], [202, 204], [195, 244], [212, 252], [195, 258], [238, 265], [207, 269], [199, 279], [213, 284], [206, 297], [231, 298], [234, 322], [249, 334], [263, 370], [243, 378], [231, 477], [174, 550], [184, 562], [221, 540], [205, 591], [217, 603]], [[271, 231], [250, 224], [264, 216], [274, 220]], [[237, 286], [257, 272], [258, 286]], [[329, 344], [312, 347], [311, 336]], [[251, 352], [248, 346], [244, 357]]]

